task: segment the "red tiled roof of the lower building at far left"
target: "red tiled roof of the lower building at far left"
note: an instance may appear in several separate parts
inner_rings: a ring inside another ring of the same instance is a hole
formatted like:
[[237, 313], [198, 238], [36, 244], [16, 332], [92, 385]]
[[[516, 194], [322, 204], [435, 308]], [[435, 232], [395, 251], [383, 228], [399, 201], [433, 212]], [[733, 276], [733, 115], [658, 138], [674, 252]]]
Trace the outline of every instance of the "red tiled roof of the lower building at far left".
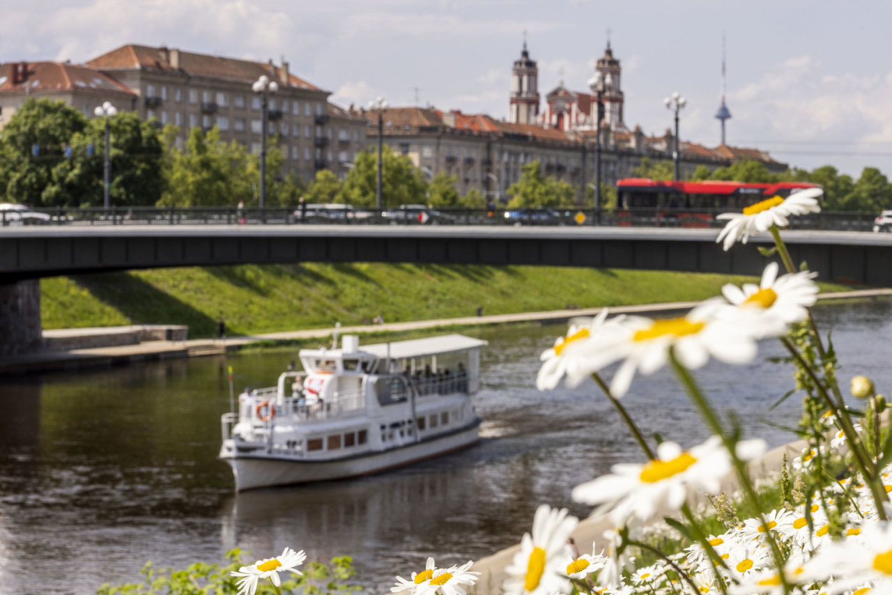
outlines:
[[[23, 79], [15, 84], [13, 70], [24, 65]], [[7, 62], [0, 64], [0, 92], [83, 91], [87, 93], [134, 95], [98, 70], [62, 62]]]

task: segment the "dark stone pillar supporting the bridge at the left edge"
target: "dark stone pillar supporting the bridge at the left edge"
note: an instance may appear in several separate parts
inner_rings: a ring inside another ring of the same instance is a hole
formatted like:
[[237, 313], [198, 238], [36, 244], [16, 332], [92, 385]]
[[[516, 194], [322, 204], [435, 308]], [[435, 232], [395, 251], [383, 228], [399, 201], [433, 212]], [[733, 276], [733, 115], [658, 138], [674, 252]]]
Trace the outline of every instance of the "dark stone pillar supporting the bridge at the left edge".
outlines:
[[0, 285], [0, 355], [37, 351], [40, 326], [40, 280]]

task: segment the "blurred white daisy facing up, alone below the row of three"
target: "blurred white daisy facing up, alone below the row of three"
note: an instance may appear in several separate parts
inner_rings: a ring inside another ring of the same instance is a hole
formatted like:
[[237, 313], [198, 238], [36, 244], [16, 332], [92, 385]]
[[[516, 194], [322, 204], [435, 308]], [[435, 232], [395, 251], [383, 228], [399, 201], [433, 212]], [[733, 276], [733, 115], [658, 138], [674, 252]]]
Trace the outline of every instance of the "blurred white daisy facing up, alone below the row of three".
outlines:
[[[758, 444], [762, 447], [753, 448]], [[747, 441], [741, 450], [750, 450], [747, 454], [756, 455], [764, 450], [764, 442]], [[701, 492], [718, 492], [720, 480], [731, 470], [731, 457], [718, 436], [687, 451], [682, 451], [675, 442], [662, 442], [657, 447], [657, 457], [644, 465], [614, 465], [612, 474], [577, 485], [572, 492], [573, 499], [586, 504], [615, 500], [611, 518], [616, 525], [623, 525], [632, 515], [647, 520], [660, 506], [670, 510], [681, 508], [689, 487]]]

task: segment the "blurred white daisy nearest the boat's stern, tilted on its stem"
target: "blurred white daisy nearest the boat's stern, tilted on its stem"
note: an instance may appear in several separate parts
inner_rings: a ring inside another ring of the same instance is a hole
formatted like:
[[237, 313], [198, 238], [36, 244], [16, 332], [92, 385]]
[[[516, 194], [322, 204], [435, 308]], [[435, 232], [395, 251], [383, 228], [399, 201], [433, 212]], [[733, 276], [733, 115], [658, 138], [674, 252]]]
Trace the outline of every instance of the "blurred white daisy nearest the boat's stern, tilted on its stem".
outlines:
[[[615, 324], [623, 318], [611, 318], [607, 324]], [[536, 376], [536, 387], [539, 390], [554, 388], [564, 376], [567, 386], [576, 386], [603, 365], [600, 364], [600, 359], [605, 359], [606, 354], [601, 353], [599, 357], [597, 343], [592, 343], [591, 340], [604, 330], [606, 319], [607, 308], [604, 308], [598, 316], [591, 319], [591, 323], [570, 326], [566, 336], [555, 340], [554, 347], [542, 351], [542, 367]]]

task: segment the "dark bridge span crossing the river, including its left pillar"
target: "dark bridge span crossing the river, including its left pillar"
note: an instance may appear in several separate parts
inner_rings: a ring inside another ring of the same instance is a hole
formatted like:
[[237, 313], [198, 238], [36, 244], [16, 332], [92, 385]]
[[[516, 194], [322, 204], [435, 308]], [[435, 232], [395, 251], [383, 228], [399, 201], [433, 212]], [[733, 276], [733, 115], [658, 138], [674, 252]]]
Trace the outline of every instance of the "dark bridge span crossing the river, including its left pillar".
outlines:
[[[665, 227], [92, 226], [0, 230], [0, 352], [40, 342], [40, 277], [244, 263], [402, 262], [757, 275], [764, 234], [724, 252], [716, 229]], [[824, 280], [892, 286], [892, 235], [784, 232]]]

